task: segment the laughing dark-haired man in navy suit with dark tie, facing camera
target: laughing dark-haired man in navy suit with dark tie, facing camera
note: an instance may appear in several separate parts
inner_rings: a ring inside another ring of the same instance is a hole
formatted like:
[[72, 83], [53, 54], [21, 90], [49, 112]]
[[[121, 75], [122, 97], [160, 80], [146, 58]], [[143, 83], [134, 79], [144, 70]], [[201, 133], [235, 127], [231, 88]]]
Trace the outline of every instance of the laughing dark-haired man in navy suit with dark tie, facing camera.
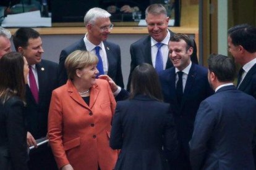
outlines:
[[174, 34], [168, 47], [169, 60], [174, 67], [160, 72], [160, 83], [164, 102], [171, 104], [176, 121], [180, 151], [176, 169], [190, 169], [189, 140], [195, 115], [200, 102], [213, 94], [213, 91], [208, 83], [207, 69], [190, 60], [193, 41], [189, 36]]

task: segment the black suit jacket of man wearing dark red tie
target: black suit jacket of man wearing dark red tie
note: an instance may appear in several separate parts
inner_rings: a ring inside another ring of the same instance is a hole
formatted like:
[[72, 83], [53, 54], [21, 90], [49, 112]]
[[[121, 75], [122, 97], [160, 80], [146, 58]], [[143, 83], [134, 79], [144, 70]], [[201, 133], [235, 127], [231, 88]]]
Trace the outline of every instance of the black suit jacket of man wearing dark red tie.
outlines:
[[36, 70], [38, 74], [39, 103], [35, 102], [30, 87], [27, 85], [25, 113], [28, 131], [35, 139], [39, 139], [45, 137], [47, 133], [51, 92], [58, 87], [58, 64], [41, 60], [40, 63], [36, 64]]

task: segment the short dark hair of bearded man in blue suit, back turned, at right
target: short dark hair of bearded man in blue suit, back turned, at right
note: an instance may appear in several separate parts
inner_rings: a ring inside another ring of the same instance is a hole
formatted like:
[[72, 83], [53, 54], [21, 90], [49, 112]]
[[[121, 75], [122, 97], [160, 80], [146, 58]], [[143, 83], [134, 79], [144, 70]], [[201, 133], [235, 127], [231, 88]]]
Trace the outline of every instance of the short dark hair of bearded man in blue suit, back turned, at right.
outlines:
[[215, 73], [220, 82], [234, 81], [236, 65], [234, 59], [221, 54], [211, 54], [208, 57], [208, 69]]

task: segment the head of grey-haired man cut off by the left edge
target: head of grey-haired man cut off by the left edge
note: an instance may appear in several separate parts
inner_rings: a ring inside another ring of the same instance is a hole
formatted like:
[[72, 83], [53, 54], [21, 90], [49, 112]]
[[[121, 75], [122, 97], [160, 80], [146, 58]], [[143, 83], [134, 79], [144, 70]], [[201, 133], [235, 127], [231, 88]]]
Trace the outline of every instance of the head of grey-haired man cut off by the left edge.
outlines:
[[2, 55], [11, 52], [11, 33], [9, 30], [0, 26], [0, 59]]

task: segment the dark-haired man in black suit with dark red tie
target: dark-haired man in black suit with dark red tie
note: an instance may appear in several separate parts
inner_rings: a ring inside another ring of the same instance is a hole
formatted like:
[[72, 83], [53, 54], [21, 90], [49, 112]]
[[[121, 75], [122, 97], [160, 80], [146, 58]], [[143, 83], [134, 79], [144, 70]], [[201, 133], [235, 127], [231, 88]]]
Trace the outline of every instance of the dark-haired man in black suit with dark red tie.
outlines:
[[[14, 34], [14, 46], [27, 59], [30, 73], [26, 88], [25, 119], [27, 121], [27, 145], [47, 136], [48, 110], [51, 92], [58, 86], [58, 64], [41, 59], [43, 54], [40, 34], [32, 28], [20, 28]], [[57, 169], [51, 148], [40, 146], [30, 151], [30, 169]]]

